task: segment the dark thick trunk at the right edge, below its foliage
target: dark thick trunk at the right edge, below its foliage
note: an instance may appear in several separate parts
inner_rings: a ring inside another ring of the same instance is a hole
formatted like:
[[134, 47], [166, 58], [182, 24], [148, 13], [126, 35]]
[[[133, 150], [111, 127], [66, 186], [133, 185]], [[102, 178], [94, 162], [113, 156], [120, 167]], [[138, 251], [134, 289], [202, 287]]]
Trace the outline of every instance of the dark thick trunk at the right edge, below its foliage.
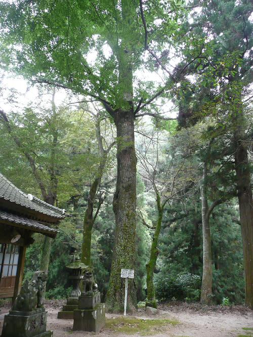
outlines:
[[245, 304], [253, 309], [253, 201], [242, 104], [235, 111], [235, 172], [245, 271]]

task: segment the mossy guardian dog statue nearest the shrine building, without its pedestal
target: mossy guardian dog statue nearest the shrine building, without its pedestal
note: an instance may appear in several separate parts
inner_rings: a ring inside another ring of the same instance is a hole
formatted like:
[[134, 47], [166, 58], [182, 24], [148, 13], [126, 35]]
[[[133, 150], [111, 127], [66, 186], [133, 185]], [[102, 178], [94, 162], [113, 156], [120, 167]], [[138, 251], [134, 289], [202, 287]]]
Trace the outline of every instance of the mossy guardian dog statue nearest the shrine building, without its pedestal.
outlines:
[[43, 294], [45, 291], [45, 282], [47, 274], [44, 271], [36, 271], [30, 282], [26, 280], [18, 294], [13, 311], [33, 311], [37, 308], [43, 308]]

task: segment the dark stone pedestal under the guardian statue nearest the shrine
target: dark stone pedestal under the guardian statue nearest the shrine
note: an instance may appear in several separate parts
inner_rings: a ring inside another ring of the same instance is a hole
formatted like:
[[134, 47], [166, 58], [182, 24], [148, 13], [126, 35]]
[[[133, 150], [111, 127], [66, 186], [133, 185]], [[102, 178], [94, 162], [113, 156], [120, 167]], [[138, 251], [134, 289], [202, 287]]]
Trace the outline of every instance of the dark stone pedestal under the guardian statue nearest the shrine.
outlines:
[[5, 315], [2, 337], [52, 337], [47, 329], [45, 309], [34, 311], [10, 311]]

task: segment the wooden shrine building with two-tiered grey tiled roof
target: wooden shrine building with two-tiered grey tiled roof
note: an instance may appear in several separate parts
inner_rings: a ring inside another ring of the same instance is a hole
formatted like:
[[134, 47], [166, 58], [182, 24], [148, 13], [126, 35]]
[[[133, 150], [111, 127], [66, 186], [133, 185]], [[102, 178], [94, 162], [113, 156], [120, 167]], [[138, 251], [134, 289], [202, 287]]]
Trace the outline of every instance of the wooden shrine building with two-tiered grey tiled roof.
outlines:
[[16, 298], [32, 234], [51, 238], [65, 210], [25, 194], [0, 173], [0, 298]]

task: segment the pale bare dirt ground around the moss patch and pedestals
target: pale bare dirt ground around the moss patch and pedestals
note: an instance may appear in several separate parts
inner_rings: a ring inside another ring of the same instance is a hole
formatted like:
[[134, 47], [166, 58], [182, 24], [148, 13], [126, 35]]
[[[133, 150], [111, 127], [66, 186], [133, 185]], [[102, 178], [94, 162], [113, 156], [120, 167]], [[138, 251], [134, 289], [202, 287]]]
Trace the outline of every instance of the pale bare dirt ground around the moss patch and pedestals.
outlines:
[[[46, 304], [48, 330], [54, 331], [54, 337], [131, 337], [143, 335], [141, 332], [134, 334], [121, 333], [113, 328], [105, 328], [100, 333], [72, 331], [72, 320], [57, 319], [57, 313], [62, 304], [62, 301], [48, 301]], [[4, 311], [6, 311], [6, 308], [4, 308]], [[120, 315], [106, 314], [107, 319], [113, 317], [115, 317], [115, 320], [121, 321]], [[128, 317], [130, 318], [130, 316]], [[179, 321], [176, 325], [169, 324], [160, 330], [153, 330], [150, 334], [147, 332], [145, 335], [159, 337], [253, 337], [253, 311], [246, 309], [244, 306], [207, 307], [200, 304], [186, 303], [163, 304], [159, 306], [158, 314], [155, 316], [147, 316], [144, 309], [139, 309], [132, 317], [142, 320], [171, 319]], [[3, 324], [3, 317], [1, 323]]]

